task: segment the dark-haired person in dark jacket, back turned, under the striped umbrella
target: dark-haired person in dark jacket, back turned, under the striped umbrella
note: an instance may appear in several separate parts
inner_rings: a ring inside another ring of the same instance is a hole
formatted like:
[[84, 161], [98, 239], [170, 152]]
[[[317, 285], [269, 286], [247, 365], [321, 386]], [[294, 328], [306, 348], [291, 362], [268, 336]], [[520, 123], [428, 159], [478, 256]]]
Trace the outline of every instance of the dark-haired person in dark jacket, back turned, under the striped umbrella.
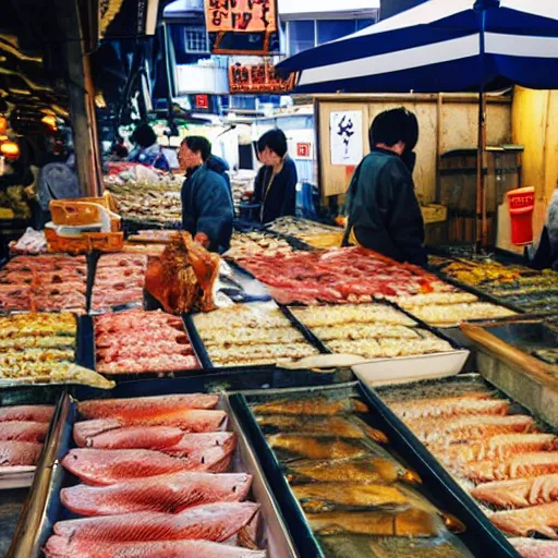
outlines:
[[349, 186], [344, 244], [354, 233], [359, 244], [398, 262], [424, 266], [424, 221], [414, 192], [413, 149], [418, 123], [404, 108], [374, 120], [372, 153], [356, 168]]

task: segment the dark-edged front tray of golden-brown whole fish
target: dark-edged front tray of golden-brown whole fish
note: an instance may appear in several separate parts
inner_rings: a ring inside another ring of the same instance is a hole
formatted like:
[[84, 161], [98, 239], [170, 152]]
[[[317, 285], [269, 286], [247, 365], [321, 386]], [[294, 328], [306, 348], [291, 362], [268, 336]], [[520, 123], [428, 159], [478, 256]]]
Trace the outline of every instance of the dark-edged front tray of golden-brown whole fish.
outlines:
[[268, 390], [230, 401], [300, 556], [515, 556], [365, 388]]

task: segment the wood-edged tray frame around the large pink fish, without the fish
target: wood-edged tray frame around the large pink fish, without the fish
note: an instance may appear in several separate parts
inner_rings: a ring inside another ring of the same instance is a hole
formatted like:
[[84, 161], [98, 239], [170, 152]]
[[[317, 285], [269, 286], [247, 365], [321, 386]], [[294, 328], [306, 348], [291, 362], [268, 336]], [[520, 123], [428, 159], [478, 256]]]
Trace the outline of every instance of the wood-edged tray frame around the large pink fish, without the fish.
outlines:
[[[194, 389], [193, 389], [194, 388]], [[196, 392], [197, 384], [189, 379], [147, 380], [128, 383], [117, 386], [107, 392], [93, 388], [78, 389], [75, 393], [80, 400], [100, 398], [133, 398], [145, 396], [163, 396], [171, 393]], [[218, 409], [228, 413], [227, 429], [235, 432], [238, 447], [233, 458], [233, 472], [245, 472], [253, 475], [252, 494], [260, 505], [263, 532], [262, 546], [267, 546], [269, 556], [274, 558], [296, 558], [296, 551], [284, 525], [277, 502], [269, 489], [247, 438], [244, 434], [234, 411], [228, 400], [221, 397]], [[76, 484], [77, 477], [65, 471], [60, 461], [70, 449], [76, 447], [72, 429], [78, 416], [76, 401], [69, 395], [63, 397], [54, 414], [52, 434], [45, 445], [46, 450], [37, 468], [37, 474], [26, 502], [20, 517], [15, 536], [7, 554], [7, 558], [39, 558], [44, 556], [43, 547], [52, 534], [57, 521], [76, 519], [64, 508], [60, 500], [60, 490]]]

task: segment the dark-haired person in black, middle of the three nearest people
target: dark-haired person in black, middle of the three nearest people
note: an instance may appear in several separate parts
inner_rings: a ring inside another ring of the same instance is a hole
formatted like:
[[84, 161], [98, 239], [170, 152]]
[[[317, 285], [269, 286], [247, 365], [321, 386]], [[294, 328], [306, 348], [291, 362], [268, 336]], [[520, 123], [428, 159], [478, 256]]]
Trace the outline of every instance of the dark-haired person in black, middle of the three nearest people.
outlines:
[[264, 165], [254, 183], [254, 202], [260, 204], [259, 219], [270, 222], [294, 215], [296, 206], [296, 166], [287, 154], [282, 130], [270, 130], [257, 142], [259, 161]]

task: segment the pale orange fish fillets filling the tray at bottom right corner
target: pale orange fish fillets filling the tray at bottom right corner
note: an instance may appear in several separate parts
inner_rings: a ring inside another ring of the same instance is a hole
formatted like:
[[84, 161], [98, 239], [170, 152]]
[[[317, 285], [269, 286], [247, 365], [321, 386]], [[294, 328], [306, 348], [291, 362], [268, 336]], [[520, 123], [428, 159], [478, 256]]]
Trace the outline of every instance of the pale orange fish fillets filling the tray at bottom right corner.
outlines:
[[551, 427], [474, 374], [377, 392], [522, 556], [558, 553]]

